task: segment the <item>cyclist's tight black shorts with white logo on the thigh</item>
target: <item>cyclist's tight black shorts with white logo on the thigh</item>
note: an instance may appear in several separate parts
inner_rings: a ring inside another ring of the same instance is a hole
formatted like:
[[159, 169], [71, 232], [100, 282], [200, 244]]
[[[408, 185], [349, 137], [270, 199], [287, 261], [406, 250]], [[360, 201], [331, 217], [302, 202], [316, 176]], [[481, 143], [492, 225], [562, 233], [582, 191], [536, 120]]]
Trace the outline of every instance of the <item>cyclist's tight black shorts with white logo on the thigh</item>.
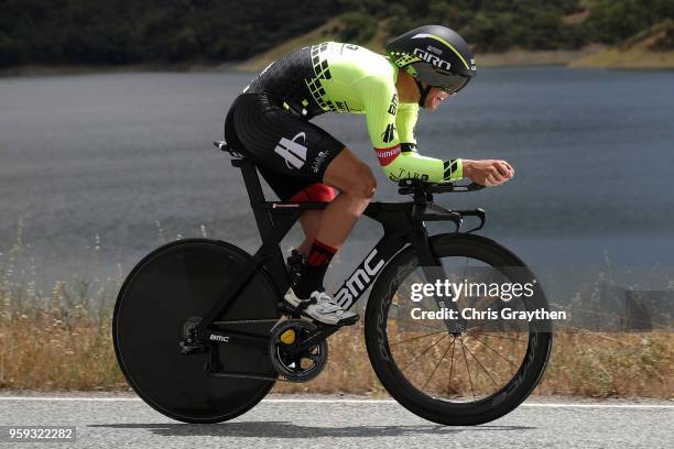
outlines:
[[344, 144], [263, 94], [242, 94], [225, 120], [225, 139], [250, 157], [281, 200], [323, 183]]

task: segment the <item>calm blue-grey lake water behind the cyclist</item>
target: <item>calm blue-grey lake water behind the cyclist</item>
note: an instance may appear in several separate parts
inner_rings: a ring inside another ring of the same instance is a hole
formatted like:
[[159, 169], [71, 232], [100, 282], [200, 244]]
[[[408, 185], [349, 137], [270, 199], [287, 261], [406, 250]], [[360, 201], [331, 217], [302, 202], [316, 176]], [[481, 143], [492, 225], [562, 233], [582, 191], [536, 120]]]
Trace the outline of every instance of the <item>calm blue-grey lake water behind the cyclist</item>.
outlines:
[[[240, 174], [211, 146], [250, 77], [1, 78], [0, 263], [20, 219], [44, 286], [74, 273], [111, 275], [117, 264], [126, 273], [162, 240], [203, 228], [254, 250]], [[481, 233], [530, 264], [594, 266], [608, 256], [620, 266], [672, 266], [673, 119], [672, 72], [493, 68], [423, 113], [416, 134], [427, 155], [511, 162], [517, 176], [506, 186], [438, 202], [487, 209]], [[377, 165], [362, 117], [316, 122]], [[376, 172], [377, 198], [402, 199]], [[337, 274], [379, 233], [362, 220]]]

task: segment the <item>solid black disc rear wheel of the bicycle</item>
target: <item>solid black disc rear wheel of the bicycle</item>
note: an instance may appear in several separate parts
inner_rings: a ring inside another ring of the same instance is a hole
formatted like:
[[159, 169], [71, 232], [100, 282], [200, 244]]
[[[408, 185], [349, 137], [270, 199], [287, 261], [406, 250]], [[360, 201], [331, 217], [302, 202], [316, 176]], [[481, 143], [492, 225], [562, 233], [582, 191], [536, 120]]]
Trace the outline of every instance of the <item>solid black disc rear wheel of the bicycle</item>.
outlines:
[[[185, 423], [232, 419], [258, 404], [275, 381], [209, 375], [207, 353], [183, 355], [183, 326], [216, 304], [251, 256], [226, 242], [186, 239], [148, 254], [124, 281], [112, 318], [112, 340], [129, 385], [151, 407]], [[280, 295], [260, 270], [222, 320], [278, 318]], [[269, 335], [272, 324], [240, 326]], [[274, 377], [265, 350], [218, 344], [228, 372]]]

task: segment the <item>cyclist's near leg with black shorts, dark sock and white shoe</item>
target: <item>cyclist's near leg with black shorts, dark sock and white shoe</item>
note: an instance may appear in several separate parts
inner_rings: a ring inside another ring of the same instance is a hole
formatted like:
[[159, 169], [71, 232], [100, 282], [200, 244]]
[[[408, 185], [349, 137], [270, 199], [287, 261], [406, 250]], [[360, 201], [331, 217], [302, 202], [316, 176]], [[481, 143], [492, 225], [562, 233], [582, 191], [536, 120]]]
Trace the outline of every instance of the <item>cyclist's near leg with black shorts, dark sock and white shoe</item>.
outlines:
[[[324, 183], [327, 167], [346, 151], [344, 144], [326, 131], [283, 109], [273, 99], [263, 95], [242, 95], [232, 109], [233, 112], [230, 111], [228, 114], [226, 132], [227, 130], [236, 132], [236, 139], [242, 150], [256, 162], [262, 176], [282, 200], [290, 199], [298, 190], [311, 185]], [[367, 166], [352, 153], [348, 153], [340, 157], [340, 163], [333, 165], [333, 171], [357, 167], [358, 174], [365, 175], [366, 178], [368, 174], [371, 176], [369, 168], [366, 172], [363, 167]], [[343, 189], [343, 194], [346, 193], [346, 195], [340, 194], [341, 199], [329, 217], [330, 220], [344, 218], [347, 226], [328, 225], [326, 233], [335, 241], [340, 240], [341, 244], [357, 217], [367, 206], [373, 183], [369, 185], [368, 190], [368, 186], [363, 188], [362, 176], [335, 173], [328, 178], [330, 185]], [[358, 186], [360, 188], [357, 188]], [[366, 190], [368, 191], [365, 196], [368, 199], [363, 200], [362, 191]], [[329, 212], [330, 208], [333, 204], [328, 205], [326, 211]], [[340, 212], [347, 213], [347, 217], [339, 217]], [[326, 212], [323, 213], [318, 227], [318, 238], [314, 239], [308, 251], [307, 265], [300, 282], [286, 293], [285, 299], [294, 306], [300, 306], [303, 299], [308, 299], [311, 296], [312, 302], [303, 305], [307, 315], [325, 324], [352, 324], [358, 319], [357, 314], [341, 309], [333, 304], [327, 295], [320, 293], [324, 291], [325, 271], [337, 251], [337, 248], [319, 241], [320, 229], [326, 222], [325, 215]]]

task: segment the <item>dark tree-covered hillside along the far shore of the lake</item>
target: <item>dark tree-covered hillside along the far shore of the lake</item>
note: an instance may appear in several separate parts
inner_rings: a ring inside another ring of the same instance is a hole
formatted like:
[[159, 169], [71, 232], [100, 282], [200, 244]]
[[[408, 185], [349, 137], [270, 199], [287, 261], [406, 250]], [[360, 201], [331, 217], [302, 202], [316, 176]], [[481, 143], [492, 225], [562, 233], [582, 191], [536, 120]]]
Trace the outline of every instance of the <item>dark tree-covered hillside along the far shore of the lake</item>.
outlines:
[[[486, 65], [565, 64], [598, 45], [620, 50], [632, 36], [674, 20], [672, 0], [279, 4], [275, 0], [0, 0], [0, 68], [225, 64], [258, 69], [292, 48], [328, 39], [379, 51], [388, 37], [427, 23], [457, 30]], [[664, 33], [644, 44], [646, 53], [606, 57], [611, 62], [622, 57], [626, 64], [646, 57], [652, 59], [649, 66], [666, 66], [670, 59], [664, 53], [674, 50], [674, 39], [671, 31]], [[595, 59], [587, 61], [584, 64]]]

